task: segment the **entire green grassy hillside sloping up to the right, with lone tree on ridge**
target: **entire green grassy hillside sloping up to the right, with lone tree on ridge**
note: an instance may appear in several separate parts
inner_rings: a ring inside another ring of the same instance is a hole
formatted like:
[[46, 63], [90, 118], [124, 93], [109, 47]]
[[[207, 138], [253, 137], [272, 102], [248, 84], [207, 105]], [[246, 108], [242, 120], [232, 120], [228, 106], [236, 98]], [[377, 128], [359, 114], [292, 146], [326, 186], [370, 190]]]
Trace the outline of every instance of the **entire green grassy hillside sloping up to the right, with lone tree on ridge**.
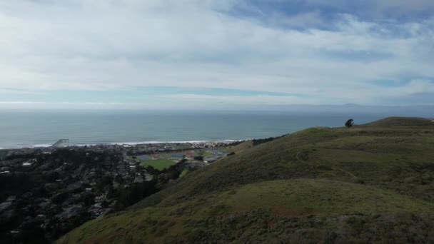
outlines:
[[308, 128], [189, 173], [58, 243], [433, 243], [434, 123]]

